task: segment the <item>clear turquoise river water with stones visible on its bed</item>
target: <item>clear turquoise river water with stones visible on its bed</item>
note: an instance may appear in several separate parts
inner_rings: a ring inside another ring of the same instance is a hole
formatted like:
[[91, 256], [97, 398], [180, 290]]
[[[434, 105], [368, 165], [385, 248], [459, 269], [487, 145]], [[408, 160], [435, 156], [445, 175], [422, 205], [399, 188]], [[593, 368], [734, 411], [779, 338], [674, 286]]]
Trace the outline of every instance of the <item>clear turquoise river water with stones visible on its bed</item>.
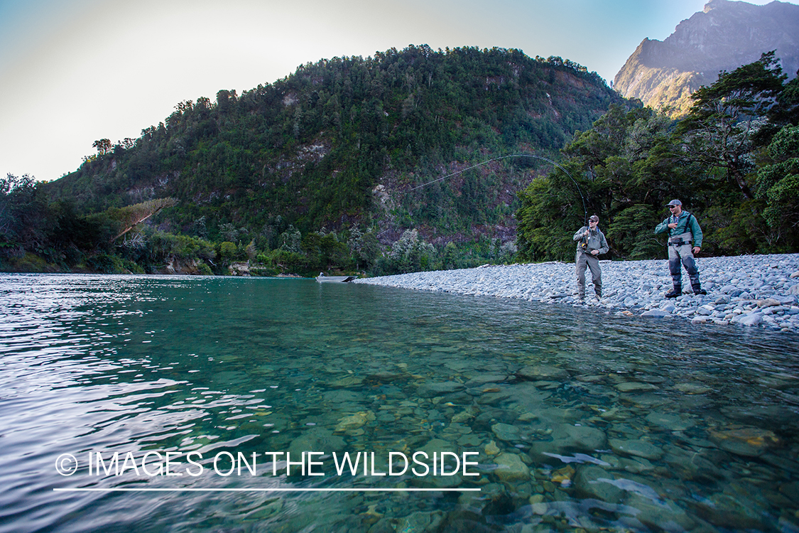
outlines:
[[[799, 531], [794, 336], [313, 280], [0, 275], [0, 354], [0, 531]], [[427, 454], [419, 475], [379, 475], [400, 452]], [[239, 455], [255, 474], [228, 475]]]

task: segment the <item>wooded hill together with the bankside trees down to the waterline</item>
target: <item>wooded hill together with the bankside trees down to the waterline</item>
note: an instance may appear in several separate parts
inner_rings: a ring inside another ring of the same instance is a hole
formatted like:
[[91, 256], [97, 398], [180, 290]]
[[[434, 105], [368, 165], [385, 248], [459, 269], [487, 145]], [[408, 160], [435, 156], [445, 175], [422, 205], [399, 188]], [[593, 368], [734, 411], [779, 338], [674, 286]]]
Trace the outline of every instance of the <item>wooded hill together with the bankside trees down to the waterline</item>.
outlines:
[[[3, 181], [3, 268], [403, 272], [511, 261], [519, 190], [623, 105], [519, 50], [376, 53], [176, 105], [75, 173]], [[491, 161], [485, 165], [479, 165]], [[442, 179], [444, 178], [444, 179]]]

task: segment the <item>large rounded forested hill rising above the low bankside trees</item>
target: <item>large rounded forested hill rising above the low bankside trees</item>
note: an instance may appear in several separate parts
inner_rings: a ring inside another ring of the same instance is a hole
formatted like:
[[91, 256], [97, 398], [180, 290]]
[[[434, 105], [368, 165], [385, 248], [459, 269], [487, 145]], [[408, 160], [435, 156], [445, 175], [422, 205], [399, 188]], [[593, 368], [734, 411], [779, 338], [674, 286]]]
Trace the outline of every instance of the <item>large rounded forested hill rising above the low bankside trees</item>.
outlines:
[[398, 228], [463, 231], [507, 221], [507, 209], [492, 212], [502, 201], [486, 197], [508, 200], [502, 185], [519, 173], [475, 172], [401, 193], [492, 156], [555, 154], [612, 101], [621, 100], [595, 74], [518, 50], [411, 46], [334, 58], [240, 95], [221, 90], [215, 103], [183, 101], [135, 141], [99, 145], [49, 189], [93, 211], [177, 197], [175, 229], [205, 216], [216, 237], [221, 224], [256, 230], [276, 215], [303, 232], [338, 227], [342, 217], [361, 223], [383, 214], [372, 191], [384, 185], [397, 204], [392, 217], [405, 220]]

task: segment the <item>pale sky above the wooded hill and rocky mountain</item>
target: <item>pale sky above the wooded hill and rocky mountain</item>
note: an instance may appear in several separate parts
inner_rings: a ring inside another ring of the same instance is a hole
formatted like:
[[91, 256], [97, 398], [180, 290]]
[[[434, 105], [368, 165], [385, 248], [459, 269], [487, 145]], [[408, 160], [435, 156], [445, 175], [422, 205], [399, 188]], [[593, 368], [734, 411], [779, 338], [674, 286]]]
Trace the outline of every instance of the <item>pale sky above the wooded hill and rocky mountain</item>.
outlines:
[[662, 41], [705, 3], [0, 0], [0, 176], [54, 180], [97, 139], [140, 137], [178, 102], [411, 44], [557, 55], [610, 81], [644, 38]]

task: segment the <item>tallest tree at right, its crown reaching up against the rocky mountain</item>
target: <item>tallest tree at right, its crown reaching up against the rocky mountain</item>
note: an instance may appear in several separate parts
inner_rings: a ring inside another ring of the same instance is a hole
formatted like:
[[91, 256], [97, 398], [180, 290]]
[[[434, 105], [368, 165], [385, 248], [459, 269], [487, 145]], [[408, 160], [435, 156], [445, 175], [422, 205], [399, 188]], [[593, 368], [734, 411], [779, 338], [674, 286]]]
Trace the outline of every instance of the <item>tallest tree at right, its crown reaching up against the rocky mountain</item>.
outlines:
[[725, 171], [747, 199], [746, 182], [753, 168], [754, 136], [777, 101], [785, 75], [774, 51], [756, 62], [721, 72], [718, 81], [691, 94], [694, 105], [678, 126], [682, 158]]

